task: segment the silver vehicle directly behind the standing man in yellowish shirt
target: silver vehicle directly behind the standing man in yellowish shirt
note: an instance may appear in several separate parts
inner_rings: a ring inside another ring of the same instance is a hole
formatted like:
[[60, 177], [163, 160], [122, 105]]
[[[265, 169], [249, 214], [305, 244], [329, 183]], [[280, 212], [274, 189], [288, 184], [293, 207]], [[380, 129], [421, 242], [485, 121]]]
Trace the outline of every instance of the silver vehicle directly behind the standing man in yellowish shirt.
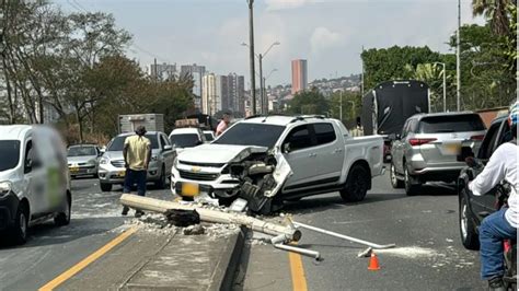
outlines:
[[[123, 148], [126, 138], [131, 135], [135, 133], [123, 133], [112, 139], [101, 158], [99, 178], [102, 191], [112, 190], [114, 184], [124, 184], [126, 168]], [[148, 131], [146, 137], [151, 141], [151, 161], [148, 166], [147, 182], [152, 182], [157, 188], [164, 189], [166, 179], [171, 176], [175, 152], [170, 139], [163, 132]]]

